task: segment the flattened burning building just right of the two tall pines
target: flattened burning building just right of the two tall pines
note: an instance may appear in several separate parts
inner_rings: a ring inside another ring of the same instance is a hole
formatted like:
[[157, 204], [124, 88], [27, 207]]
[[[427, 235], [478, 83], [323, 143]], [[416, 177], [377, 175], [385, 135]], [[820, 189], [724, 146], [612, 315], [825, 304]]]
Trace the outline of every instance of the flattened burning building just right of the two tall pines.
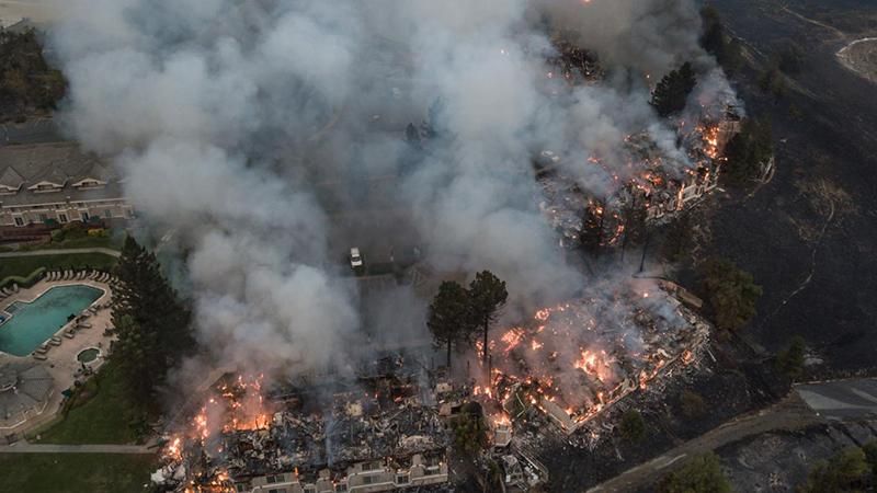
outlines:
[[699, 357], [709, 324], [669, 291], [635, 282], [539, 310], [491, 342], [489, 383], [476, 395], [497, 421], [535, 408], [572, 433], [674, 366]]

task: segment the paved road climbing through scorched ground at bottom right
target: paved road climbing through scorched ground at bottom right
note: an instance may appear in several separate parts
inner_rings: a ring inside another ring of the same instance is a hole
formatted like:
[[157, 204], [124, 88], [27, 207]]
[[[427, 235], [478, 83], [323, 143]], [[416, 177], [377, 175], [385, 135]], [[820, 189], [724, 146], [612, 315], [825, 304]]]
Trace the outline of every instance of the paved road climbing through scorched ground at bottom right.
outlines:
[[848, 379], [796, 386], [783, 401], [745, 414], [590, 490], [637, 491], [647, 488], [672, 467], [698, 454], [743, 438], [777, 429], [801, 429], [825, 420], [864, 420], [877, 416], [877, 380]]

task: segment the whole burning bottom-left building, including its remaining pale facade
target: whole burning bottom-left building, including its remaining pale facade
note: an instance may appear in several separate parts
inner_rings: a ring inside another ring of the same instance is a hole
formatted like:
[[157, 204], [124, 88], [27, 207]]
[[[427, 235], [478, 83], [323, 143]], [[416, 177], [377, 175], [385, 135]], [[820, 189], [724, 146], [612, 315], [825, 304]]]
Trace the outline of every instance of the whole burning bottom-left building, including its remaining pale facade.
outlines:
[[[179, 492], [405, 491], [448, 481], [437, 409], [395, 376], [324, 389], [266, 392], [242, 379], [166, 447], [152, 481]], [[258, 402], [257, 406], [249, 403]], [[250, 408], [250, 409], [248, 409]]]

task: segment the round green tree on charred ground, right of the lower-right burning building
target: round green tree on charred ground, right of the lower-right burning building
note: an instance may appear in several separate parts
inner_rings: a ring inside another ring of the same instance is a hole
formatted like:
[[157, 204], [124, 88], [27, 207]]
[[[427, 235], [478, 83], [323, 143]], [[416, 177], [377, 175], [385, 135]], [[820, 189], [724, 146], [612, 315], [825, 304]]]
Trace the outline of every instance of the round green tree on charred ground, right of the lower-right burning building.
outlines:
[[701, 275], [719, 329], [736, 331], [755, 317], [755, 303], [763, 290], [752, 274], [729, 260], [710, 259]]

